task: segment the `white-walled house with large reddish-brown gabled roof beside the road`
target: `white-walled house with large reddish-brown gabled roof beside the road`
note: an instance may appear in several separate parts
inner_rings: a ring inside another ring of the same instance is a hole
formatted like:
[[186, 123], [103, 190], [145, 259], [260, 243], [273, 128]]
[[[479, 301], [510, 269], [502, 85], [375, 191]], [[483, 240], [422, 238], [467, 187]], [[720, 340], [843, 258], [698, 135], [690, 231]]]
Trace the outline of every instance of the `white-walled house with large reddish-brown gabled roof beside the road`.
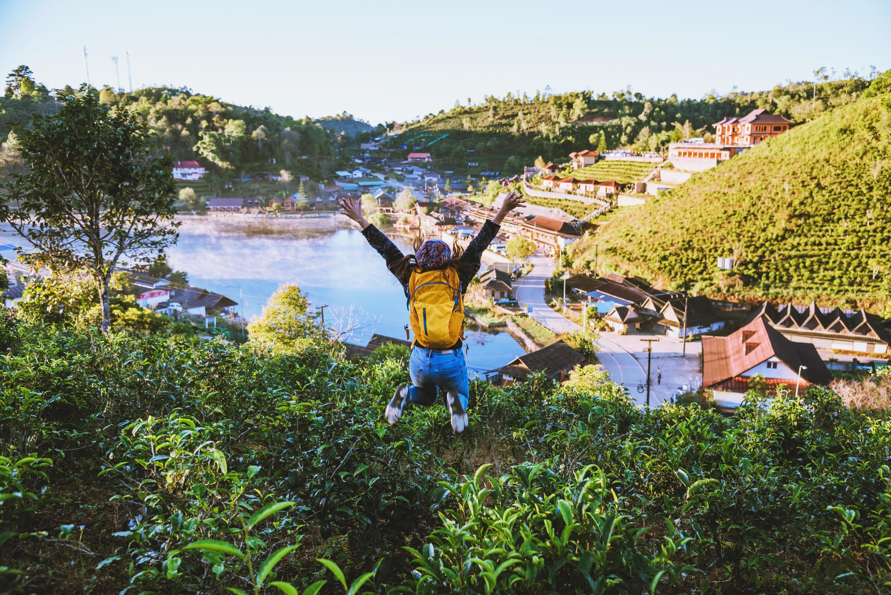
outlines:
[[783, 337], [765, 316], [727, 337], [702, 338], [702, 386], [714, 391], [716, 403], [738, 406], [756, 375], [769, 393], [781, 385], [801, 391], [830, 382], [816, 347]]

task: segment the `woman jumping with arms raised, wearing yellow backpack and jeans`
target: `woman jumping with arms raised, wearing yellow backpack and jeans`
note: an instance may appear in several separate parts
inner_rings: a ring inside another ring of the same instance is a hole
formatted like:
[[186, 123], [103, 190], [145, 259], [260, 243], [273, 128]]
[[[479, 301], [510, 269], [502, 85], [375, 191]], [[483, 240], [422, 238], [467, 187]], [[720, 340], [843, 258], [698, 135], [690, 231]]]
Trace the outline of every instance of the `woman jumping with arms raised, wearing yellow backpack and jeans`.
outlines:
[[470, 280], [479, 271], [483, 250], [495, 239], [501, 223], [514, 208], [524, 205], [519, 194], [511, 192], [491, 221], [486, 221], [467, 249], [457, 243], [453, 249], [443, 240], [415, 240], [414, 254], [404, 255], [362, 215], [362, 201], [347, 196], [340, 206], [347, 217], [362, 227], [365, 240], [387, 261], [387, 267], [402, 284], [407, 299], [409, 321], [414, 331], [412, 357], [408, 372], [413, 386], [400, 384], [387, 405], [385, 415], [390, 425], [405, 411], [405, 405], [432, 405], [437, 401], [437, 387], [446, 393], [446, 405], [452, 414], [452, 429], [467, 427], [469, 379], [462, 354], [464, 322], [463, 295]]

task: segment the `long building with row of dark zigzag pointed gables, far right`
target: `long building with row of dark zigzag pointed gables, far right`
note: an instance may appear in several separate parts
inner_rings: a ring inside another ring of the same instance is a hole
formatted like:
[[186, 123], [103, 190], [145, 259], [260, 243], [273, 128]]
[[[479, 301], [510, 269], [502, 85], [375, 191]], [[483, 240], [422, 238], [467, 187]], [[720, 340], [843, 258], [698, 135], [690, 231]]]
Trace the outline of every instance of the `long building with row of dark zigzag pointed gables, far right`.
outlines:
[[842, 310], [817, 306], [774, 307], [764, 302], [755, 317], [764, 316], [783, 337], [797, 343], [811, 343], [818, 349], [887, 354], [891, 334], [879, 316], [865, 310]]

